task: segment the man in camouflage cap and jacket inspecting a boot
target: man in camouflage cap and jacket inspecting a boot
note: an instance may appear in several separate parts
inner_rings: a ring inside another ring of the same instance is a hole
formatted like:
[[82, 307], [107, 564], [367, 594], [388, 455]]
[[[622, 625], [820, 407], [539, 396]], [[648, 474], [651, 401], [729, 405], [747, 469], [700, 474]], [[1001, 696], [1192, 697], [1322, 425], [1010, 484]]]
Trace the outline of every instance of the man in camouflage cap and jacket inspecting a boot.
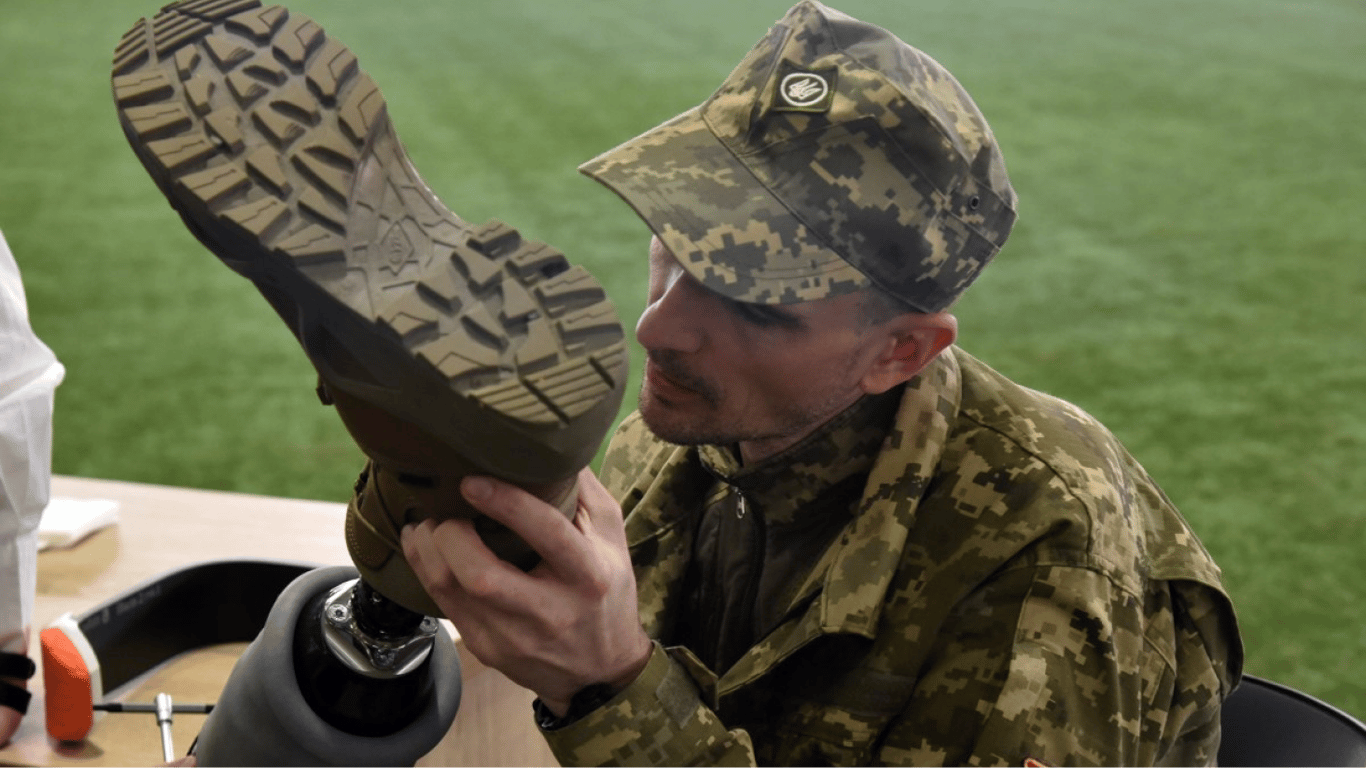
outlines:
[[1213, 764], [1218, 568], [1102, 425], [953, 346], [1016, 195], [949, 72], [803, 0], [583, 171], [654, 232], [639, 411], [572, 522], [466, 478], [535, 570], [403, 532], [563, 764]]

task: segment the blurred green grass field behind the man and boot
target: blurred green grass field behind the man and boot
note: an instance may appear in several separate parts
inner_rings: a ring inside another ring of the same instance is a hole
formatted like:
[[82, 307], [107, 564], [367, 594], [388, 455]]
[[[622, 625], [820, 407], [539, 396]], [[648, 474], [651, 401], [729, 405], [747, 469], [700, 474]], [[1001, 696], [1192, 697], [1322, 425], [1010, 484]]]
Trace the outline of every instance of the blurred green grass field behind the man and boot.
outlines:
[[[1124, 439], [1224, 567], [1249, 672], [1366, 716], [1366, 5], [836, 5], [945, 63], [1004, 148], [1020, 221], [962, 344]], [[112, 49], [156, 8], [0, 0], [0, 230], [68, 368], [55, 469], [346, 499], [359, 454], [292, 338], [119, 131]], [[646, 231], [575, 167], [705, 98], [787, 0], [291, 8], [454, 210], [556, 245], [631, 325]]]

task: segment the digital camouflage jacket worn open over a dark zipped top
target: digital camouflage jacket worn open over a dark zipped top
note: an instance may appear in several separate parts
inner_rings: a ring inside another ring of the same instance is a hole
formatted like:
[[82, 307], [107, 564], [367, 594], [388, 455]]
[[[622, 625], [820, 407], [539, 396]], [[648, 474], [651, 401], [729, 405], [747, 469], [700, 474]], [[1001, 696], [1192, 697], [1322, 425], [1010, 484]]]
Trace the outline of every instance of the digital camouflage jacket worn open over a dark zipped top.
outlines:
[[[556, 757], [1213, 764], [1242, 670], [1232, 607], [1119, 441], [959, 348], [906, 385], [884, 433], [843, 530], [784, 592], [777, 626], [719, 676], [673, 645], [714, 489], [706, 448], [661, 443], [638, 415], [623, 422], [601, 474], [628, 515], [656, 650], [613, 700], [545, 732]], [[848, 462], [831, 461], [831, 477]]]

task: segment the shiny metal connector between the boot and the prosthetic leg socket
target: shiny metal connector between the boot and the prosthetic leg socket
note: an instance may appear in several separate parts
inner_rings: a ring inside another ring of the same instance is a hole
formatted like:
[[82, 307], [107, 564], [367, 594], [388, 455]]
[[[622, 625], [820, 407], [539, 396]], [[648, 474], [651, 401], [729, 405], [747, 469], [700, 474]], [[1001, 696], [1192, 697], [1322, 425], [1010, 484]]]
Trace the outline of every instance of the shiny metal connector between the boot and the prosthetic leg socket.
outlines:
[[348, 668], [370, 678], [398, 678], [417, 670], [432, 653], [437, 620], [425, 616], [411, 637], [380, 640], [357, 625], [352, 596], [361, 579], [342, 582], [322, 603], [322, 640]]

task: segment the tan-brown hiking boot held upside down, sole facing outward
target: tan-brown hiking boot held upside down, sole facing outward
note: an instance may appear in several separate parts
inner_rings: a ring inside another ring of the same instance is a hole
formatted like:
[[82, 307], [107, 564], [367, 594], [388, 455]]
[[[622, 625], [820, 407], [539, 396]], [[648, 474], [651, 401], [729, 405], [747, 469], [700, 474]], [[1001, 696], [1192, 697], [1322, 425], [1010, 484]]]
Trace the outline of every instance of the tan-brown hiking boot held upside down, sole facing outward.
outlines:
[[[572, 515], [627, 372], [591, 275], [501, 221], [451, 213], [357, 57], [279, 5], [167, 5], [123, 37], [112, 86], [138, 160], [285, 321], [370, 458], [347, 543], [372, 586], [436, 614], [393, 556], [396, 532], [471, 514], [452, 491], [466, 474]], [[496, 551], [525, 566], [516, 544]]]

